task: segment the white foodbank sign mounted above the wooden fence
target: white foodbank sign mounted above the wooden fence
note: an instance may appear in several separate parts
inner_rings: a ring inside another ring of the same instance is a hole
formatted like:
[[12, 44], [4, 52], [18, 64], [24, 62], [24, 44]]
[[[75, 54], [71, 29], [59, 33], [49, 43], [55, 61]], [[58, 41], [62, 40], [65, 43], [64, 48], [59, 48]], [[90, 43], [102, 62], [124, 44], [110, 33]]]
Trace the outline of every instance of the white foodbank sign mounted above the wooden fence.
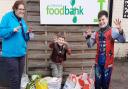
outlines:
[[40, 23], [98, 24], [98, 12], [108, 6], [108, 0], [40, 0]]

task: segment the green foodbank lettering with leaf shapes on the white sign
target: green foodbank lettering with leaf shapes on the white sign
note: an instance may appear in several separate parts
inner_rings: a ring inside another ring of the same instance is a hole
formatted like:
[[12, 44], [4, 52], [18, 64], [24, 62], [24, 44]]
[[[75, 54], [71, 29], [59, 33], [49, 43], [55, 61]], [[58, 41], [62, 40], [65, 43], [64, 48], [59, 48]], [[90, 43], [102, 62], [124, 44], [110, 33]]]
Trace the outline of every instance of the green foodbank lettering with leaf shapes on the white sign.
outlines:
[[70, 1], [70, 5], [72, 6], [71, 8], [68, 8], [67, 6], [57, 6], [57, 5], [53, 5], [53, 6], [47, 6], [46, 10], [47, 10], [47, 15], [72, 15], [73, 19], [72, 22], [73, 23], [77, 23], [78, 15], [84, 15], [84, 8], [82, 8], [81, 6], [79, 7], [75, 7], [76, 4], [76, 0], [71, 0]]

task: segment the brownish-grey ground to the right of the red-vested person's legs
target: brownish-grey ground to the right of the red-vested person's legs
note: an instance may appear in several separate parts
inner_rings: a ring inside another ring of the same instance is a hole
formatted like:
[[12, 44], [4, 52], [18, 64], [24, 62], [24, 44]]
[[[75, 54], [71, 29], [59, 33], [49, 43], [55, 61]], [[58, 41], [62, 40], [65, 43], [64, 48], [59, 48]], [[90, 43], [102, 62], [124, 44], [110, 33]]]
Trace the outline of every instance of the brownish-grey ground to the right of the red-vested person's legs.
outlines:
[[110, 89], [128, 89], [128, 61], [116, 61]]

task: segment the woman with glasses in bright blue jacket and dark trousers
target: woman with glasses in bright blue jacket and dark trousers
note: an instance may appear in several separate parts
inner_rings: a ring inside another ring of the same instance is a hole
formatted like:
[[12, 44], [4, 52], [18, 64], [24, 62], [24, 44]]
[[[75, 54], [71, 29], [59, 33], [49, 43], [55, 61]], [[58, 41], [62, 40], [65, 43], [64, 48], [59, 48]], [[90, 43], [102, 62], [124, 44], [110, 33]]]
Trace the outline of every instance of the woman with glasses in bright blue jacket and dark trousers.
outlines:
[[25, 14], [23, 1], [17, 0], [12, 9], [13, 11], [6, 13], [1, 20], [0, 37], [2, 38], [2, 57], [6, 62], [10, 89], [20, 89], [29, 30], [23, 19]]

